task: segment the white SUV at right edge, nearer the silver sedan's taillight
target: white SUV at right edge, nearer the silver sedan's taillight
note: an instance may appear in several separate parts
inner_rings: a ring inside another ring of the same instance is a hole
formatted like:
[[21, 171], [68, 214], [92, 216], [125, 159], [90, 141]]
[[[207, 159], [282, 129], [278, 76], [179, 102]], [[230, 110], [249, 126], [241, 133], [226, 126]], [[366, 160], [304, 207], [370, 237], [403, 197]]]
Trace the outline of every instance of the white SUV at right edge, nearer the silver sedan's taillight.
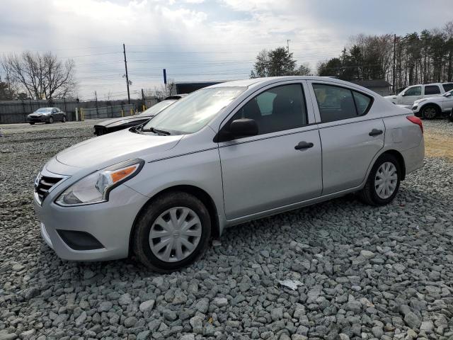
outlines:
[[413, 102], [412, 111], [414, 115], [422, 118], [432, 119], [439, 115], [448, 116], [453, 109], [453, 90], [445, 92], [440, 96], [419, 99]]

